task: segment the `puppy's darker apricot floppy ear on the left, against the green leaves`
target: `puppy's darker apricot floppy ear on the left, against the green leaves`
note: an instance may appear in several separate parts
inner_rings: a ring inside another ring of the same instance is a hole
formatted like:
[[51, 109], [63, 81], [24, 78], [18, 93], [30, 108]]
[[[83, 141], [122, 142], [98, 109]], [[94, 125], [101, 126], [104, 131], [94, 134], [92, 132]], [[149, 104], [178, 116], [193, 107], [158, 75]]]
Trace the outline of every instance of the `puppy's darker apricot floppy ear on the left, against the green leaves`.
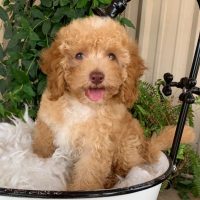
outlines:
[[50, 92], [50, 99], [57, 100], [63, 95], [65, 89], [64, 72], [60, 65], [61, 54], [58, 42], [54, 41], [50, 48], [42, 51], [40, 66], [47, 75], [47, 88]]

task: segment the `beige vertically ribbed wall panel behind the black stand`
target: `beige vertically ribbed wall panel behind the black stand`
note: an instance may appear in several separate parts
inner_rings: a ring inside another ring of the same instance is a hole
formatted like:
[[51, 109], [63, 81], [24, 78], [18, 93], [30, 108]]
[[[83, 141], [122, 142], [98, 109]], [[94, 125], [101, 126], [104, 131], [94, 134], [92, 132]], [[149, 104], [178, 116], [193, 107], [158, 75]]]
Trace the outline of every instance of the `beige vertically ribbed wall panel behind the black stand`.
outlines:
[[[148, 70], [143, 79], [154, 83], [170, 72], [174, 80], [189, 75], [200, 31], [196, 0], [133, 0], [126, 16], [136, 25], [129, 33], [138, 40]], [[200, 72], [198, 74], [200, 86]], [[180, 91], [174, 91], [179, 95]], [[200, 135], [200, 106], [195, 107], [195, 127]], [[200, 139], [196, 148], [200, 152]]]

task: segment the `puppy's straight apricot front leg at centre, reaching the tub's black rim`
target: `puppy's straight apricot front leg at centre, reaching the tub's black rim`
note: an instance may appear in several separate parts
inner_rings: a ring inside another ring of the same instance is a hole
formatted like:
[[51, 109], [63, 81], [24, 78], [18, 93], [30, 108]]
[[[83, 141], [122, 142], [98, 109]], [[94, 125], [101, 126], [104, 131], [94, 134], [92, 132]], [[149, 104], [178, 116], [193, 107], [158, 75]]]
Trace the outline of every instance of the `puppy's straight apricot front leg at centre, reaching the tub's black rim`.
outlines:
[[68, 190], [103, 189], [111, 170], [111, 155], [108, 152], [94, 152], [92, 149], [83, 154], [74, 166], [72, 184]]

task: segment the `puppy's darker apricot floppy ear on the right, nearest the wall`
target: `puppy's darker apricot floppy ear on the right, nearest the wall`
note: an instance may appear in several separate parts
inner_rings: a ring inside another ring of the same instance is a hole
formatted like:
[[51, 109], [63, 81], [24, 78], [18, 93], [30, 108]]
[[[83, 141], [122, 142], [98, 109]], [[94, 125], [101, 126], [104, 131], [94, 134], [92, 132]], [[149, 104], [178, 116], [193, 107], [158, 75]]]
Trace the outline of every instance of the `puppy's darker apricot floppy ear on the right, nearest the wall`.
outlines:
[[135, 44], [130, 44], [130, 63], [126, 66], [126, 79], [121, 87], [121, 100], [130, 108], [138, 97], [138, 81], [146, 67]]

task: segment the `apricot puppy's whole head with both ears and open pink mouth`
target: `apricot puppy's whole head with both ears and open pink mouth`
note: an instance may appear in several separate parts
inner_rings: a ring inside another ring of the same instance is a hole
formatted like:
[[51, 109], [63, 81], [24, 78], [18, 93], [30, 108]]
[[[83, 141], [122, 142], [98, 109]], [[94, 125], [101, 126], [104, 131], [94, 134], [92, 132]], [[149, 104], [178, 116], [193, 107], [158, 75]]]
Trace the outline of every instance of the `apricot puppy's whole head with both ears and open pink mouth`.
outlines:
[[129, 106], [144, 70], [124, 27], [109, 18], [73, 21], [41, 58], [52, 100], [67, 92], [83, 103], [115, 100]]

